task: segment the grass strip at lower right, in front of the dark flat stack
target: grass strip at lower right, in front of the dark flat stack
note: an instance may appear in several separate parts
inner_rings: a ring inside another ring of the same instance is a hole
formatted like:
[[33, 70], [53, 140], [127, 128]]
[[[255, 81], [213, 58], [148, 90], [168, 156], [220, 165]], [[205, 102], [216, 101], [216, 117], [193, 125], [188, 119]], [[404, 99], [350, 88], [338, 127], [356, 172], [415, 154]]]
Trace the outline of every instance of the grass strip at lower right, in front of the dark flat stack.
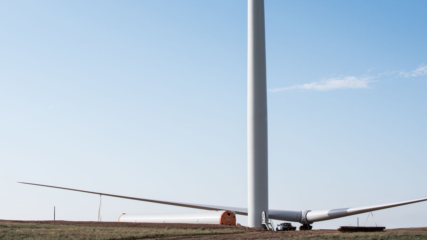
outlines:
[[[281, 238], [288, 240], [291, 238]], [[337, 234], [319, 234], [304, 237], [292, 237], [292, 240], [427, 240], [427, 231], [385, 231], [354, 232]]]

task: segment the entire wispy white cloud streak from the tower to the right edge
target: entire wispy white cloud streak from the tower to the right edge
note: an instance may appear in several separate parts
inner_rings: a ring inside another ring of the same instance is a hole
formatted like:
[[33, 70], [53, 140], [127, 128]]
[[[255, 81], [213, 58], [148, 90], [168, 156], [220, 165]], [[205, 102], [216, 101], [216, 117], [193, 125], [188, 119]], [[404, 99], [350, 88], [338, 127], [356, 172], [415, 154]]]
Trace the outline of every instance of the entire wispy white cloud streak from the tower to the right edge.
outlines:
[[[368, 73], [371, 72], [374, 68], [368, 70]], [[315, 91], [329, 91], [329, 90], [338, 90], [338, 89], [367, 89], [372, 88], [370, 86], [371, 82], [375, 78], [379, 78], [382, 75], [395, 75], [397, 77], [411, 78], [411, 77], [420, 77], [427, 76], [427, 65], [421, 64], [418, 68], [405, 72], [401, 71], [392, 71], [392, 72], [383, 72], [376, 75], [362, 75], [362, 76], [345, 76], [340, 75], [338, 77], [329, 77], [323, 78], [320, 81], [313, 81], [306, 84], [295, 84], [289, 87], [280, 87], [269, 89], [272, 93], [277, 93], [281, 91], [289, 90], [315, 90]]]

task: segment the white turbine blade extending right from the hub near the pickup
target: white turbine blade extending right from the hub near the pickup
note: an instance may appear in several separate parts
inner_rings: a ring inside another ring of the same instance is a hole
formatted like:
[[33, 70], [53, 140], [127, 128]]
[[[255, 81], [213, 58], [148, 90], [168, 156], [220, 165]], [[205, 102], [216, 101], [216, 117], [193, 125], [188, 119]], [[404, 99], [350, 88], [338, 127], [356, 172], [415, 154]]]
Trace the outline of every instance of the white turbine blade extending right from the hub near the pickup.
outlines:
[[310, 223], [319, 222], [324, 220], [330, 220], [339, 217], [347, 217], [355, 214], [366, 213], [370, 211], [381, 210], [385, 208], [393, 208], [401, 205], [407, 205], [415, 202], [426, 201], [427, 198], [403, 201], [403, 202], [393, 202], [386, 204], [378, 204], [364, 207], [356, 207], [356, 208], [339, 208], [339, 209], [330, 209], [330, 210], [320, 210], [320, 211], [309, 211], [306, 215], [307, 220]]

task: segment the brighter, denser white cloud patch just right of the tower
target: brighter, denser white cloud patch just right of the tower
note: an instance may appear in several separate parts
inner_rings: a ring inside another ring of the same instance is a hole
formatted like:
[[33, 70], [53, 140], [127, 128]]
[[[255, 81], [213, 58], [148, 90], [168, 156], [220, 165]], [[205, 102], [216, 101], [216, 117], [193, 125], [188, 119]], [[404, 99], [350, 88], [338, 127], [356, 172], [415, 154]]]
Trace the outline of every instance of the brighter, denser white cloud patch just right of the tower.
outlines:
[[372, 81], [374, 76], [363, 75], [360, 77], [355, 76], [339, 76], [336, 78], [324, 78], [317, 82], [311, 82], [306, 84], [295, 84], [290, 87], [282, 87], [269, 89], [270, 92], [277, 93], [286, 90], [317, 90], [317, 91], [328, 91], [336, 89], [363, 89], [370, 88], [369, 83]]

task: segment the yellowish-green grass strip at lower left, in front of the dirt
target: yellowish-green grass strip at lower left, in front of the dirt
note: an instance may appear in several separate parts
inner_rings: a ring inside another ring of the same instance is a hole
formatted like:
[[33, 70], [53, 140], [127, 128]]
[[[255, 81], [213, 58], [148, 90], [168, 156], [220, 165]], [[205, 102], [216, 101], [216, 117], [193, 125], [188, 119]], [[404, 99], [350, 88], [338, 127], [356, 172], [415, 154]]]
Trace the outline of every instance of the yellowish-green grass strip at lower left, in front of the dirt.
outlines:
[[131, 240], [137, 238], [242, 233], [236, 229], [115, 228], [0, 223], [1, 240]]

